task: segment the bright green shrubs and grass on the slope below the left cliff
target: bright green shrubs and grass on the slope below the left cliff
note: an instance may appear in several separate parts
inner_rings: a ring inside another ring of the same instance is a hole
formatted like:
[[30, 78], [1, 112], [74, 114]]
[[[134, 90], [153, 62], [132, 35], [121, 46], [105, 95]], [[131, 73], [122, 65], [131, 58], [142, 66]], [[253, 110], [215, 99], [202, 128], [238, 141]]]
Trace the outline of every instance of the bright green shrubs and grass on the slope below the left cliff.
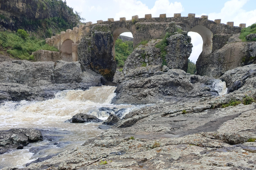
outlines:
[[35, 37], [28, 37], [24, 30], [18, 30], [16, 34], [0, 32], [0, 49], [9, 53], [13, 58], [33, 60], [32, 52], [44, 49], [58, 51], [55, 47], [49, 46]]

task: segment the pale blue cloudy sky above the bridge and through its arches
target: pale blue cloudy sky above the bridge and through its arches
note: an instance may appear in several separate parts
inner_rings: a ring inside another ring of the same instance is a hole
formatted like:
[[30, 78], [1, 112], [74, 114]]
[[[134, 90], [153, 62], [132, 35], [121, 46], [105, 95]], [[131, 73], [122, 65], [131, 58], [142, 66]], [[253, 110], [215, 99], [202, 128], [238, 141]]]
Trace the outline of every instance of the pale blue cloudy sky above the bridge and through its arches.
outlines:
[[[97, 23], [97, 20], [107, 21], [114, 18], [118, 21], [121, 17], [131, 20], [138, 15], [144, 18], [145, 14], [159, 17], [173, 17], [174, 13], [181, 13], [186, 17], [189, 13], [196, 17], [208, 15], [209, 20], [221, 19], [221, 23], [234, 22], [234, 26], [245, 23], [250, 26], [256, 22], [256, 0], [66, 0], [67, 5], [81, 13], [83, 22]], [[132, 37], [131, 33], [122, 35]], [[192, 38], [192, 53], [190, 60], [196, 62], [202, 51], [203, 40], [197, 33], [189, 32]]]

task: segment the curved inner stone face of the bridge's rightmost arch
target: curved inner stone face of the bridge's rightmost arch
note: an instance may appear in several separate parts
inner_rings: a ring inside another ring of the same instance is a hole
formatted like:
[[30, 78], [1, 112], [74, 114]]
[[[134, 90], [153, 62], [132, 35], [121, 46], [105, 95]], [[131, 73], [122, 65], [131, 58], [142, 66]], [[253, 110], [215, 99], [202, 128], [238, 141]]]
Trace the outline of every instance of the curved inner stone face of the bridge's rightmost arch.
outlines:
[[209, 30], [205, 26], [198, 25], [198, 26], [195, 26], [192, 29], [190, 29], [189, 32], [196, 32], [202, 37], [202, 39], [203, 39], [203, 51], [202, 52], [204, 54], [209, 54], [212, 52], [213, 33], [211, 30]]

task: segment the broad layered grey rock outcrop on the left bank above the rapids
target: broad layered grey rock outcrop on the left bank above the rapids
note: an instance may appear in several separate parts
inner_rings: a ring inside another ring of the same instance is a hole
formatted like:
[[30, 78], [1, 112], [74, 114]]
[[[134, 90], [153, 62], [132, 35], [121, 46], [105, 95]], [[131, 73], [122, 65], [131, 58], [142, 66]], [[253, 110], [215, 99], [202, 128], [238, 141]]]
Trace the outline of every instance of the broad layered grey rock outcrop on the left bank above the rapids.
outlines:
[[83, 71], [80, 62], [14, 60], [0, 63], [0, 71], [0, 102], [42, 101], [53, 98], [61, 90], [86, 90], [105, 83], [101, 75]]

